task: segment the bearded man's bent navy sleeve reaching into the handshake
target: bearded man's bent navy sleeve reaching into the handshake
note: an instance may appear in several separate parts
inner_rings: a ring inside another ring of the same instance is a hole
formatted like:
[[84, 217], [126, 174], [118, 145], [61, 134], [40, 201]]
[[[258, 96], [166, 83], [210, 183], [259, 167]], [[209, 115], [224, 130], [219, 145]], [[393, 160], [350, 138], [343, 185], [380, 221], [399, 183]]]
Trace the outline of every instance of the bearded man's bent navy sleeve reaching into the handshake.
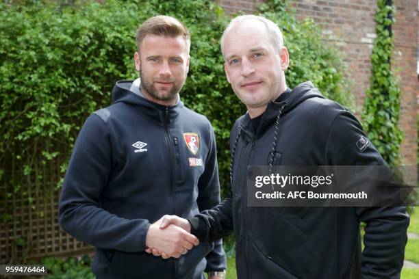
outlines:
[[128, 220], [101, 208], [101, 193], [112, 171], [111, 142], [105, 122], [92, 114], [77, 137], [64, 178], [60, 225], [78, 240], [97, 248], [142, 251], [149, 220]]

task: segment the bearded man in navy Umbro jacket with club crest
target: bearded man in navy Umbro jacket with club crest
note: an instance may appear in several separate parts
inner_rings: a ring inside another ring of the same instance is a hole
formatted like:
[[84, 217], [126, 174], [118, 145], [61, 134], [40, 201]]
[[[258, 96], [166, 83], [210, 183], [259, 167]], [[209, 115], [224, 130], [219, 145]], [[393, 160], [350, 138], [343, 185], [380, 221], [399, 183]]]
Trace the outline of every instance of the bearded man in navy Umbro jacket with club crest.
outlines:
[[[140, 78], [118, 81], [113, 104], [90, 115], [77, 137], [60, 225], [95, 246], [97, 278], [202, 279], [204, 271], [219, 278], [221, 241], [199, 243], [186, 230], [162, 230], [157, 222], [165, 214], [192, 217], [220, 202], [214, 131], [179, 99], [190, 33], [176, 18], [154, 16], [139, 27], [137, 44]], [[173, 258], [156, 258], [147, 247]]]

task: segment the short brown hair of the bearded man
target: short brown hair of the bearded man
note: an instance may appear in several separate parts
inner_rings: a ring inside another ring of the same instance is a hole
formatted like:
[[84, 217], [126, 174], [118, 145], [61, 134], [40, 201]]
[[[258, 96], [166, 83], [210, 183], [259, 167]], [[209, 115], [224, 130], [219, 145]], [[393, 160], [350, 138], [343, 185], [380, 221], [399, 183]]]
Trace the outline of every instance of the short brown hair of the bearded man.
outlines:
[[137, 29], [137, 49], [140, 51], [142, 40], [148, 34], [165, 37], [182, 36], [186, 40], [188, 51], [190, 49], [190, 32], [181, 21], [172, 16], [153, 16], [144, 21]]

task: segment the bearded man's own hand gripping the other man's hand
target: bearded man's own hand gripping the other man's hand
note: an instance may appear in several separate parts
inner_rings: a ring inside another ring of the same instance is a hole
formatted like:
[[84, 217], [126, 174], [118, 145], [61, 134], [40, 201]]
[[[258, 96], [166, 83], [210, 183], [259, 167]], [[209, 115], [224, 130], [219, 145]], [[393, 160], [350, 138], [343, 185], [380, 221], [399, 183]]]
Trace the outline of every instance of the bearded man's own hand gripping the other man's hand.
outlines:
[[[188, 222], [188, 221], [186, 221]], [[146, 246], [162, 252], [163, 258], [170, 256], [179, 258], [191, 250], [199, 240], [179, 226], [164, 223], [164, 229], [160, 228], [160, 220], [149, 227], [146, 238]], [[153, 253], [154, 254], [154, 253]]]

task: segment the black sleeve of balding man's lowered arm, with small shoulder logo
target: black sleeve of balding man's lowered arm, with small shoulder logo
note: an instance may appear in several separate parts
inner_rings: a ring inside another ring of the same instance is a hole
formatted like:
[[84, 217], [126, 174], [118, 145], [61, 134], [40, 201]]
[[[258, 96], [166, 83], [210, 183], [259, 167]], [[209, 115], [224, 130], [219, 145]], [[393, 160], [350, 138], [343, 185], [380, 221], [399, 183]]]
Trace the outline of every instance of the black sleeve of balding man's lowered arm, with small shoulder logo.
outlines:
[[[327, 139], [328, 164], [385, 165], [372, 144], [365, 149], [357, 146], [361, 136], [367, 138], [352, 114], [348, 111], [338, 114]], [[359, 221], [366, 222], [362, 278], [400, 278], [409, 226], [405, 207], [356, 207], [355, 214]]]

